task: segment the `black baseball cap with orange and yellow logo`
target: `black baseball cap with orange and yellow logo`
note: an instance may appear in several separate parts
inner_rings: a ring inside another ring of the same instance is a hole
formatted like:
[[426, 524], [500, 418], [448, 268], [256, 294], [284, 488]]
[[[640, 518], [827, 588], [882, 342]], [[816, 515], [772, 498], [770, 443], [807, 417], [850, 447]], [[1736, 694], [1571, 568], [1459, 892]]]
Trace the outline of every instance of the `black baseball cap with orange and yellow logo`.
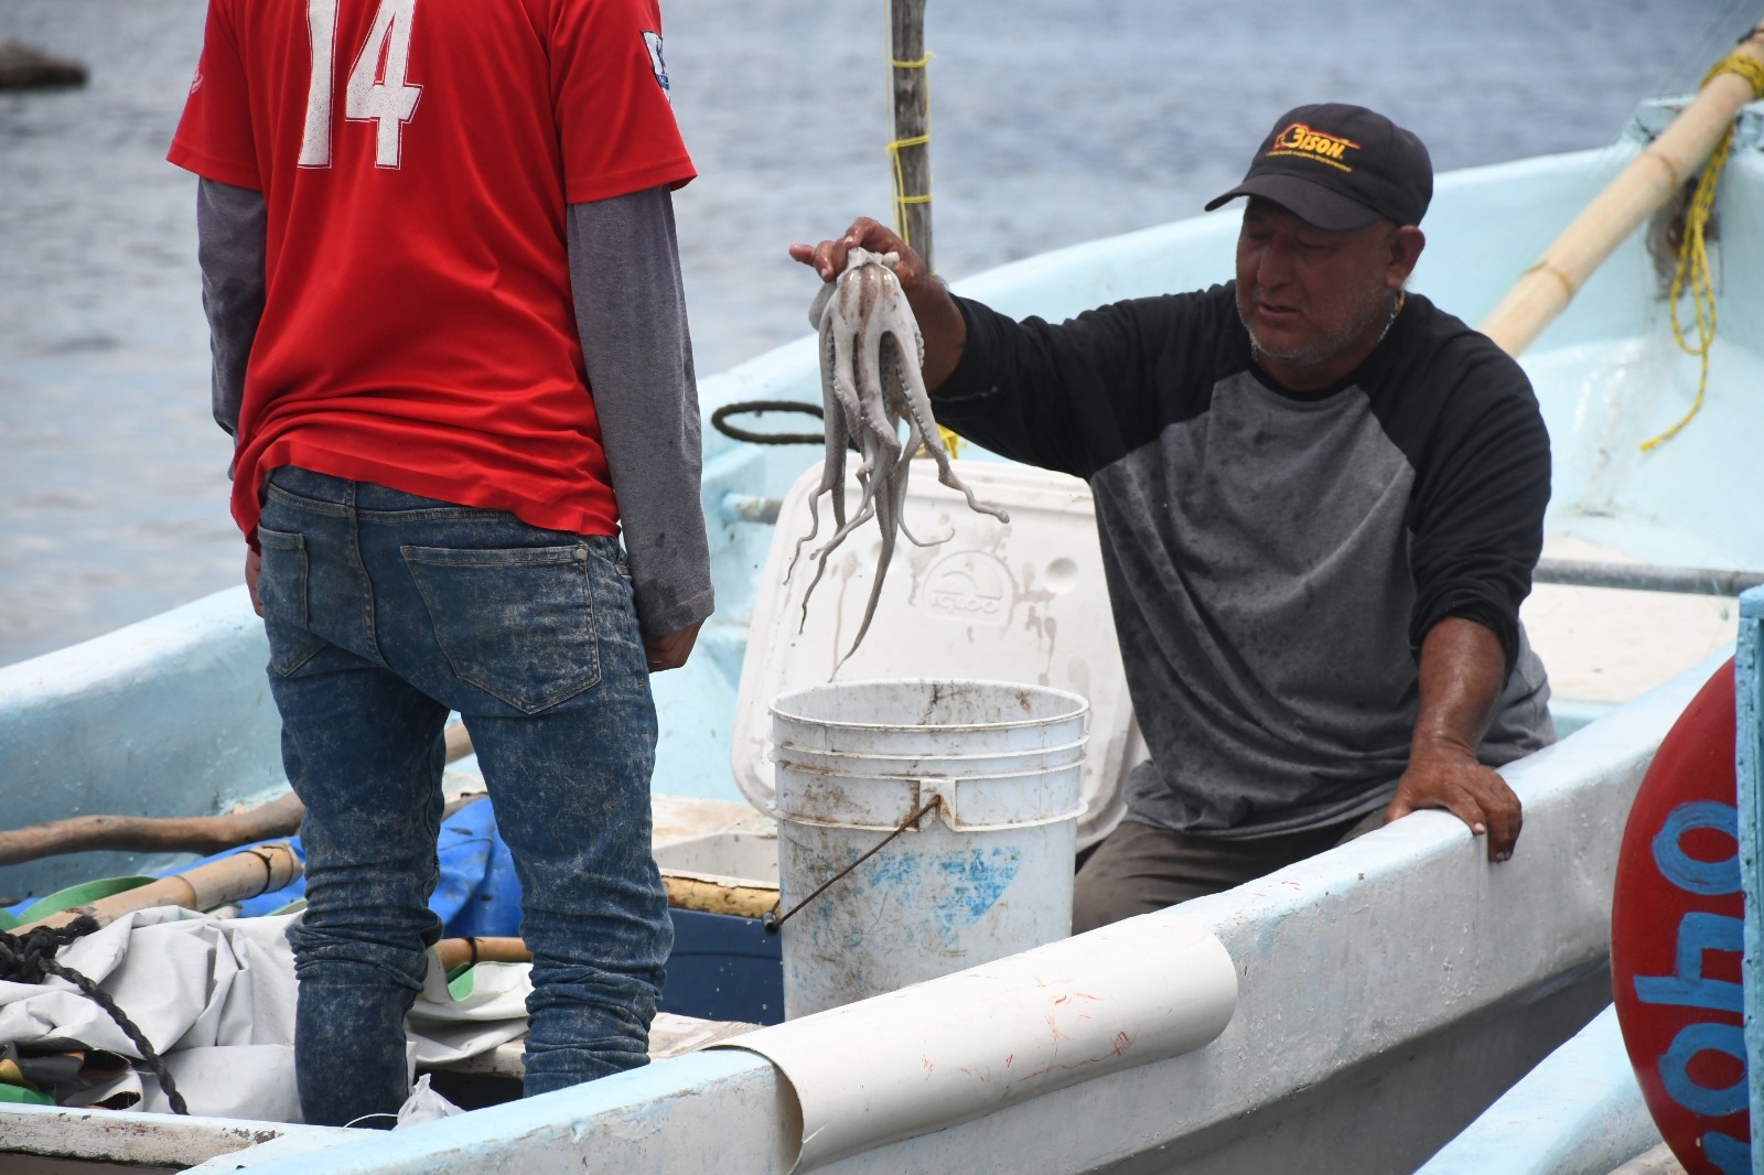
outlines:
[[1263, 139], [1244, 182], [1210, 201], [1272, 199], [1321, 229], [1378, 219], [1420, 224], [1432, 199], [1427, 146], [1378, 111], [1321, 102], [1286, 111]]

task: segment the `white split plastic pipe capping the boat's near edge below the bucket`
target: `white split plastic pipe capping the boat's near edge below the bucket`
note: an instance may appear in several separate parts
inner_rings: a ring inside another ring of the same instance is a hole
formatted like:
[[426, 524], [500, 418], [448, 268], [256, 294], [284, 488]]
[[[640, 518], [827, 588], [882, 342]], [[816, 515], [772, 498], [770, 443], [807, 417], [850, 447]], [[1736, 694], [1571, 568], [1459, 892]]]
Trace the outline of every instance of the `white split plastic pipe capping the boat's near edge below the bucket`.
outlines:
[[1117, 1069], [1194, 1052], [1231, 1022], [1237, 969], [1173, 914], [750, 1032], [789, 1078], [810, 1170]]

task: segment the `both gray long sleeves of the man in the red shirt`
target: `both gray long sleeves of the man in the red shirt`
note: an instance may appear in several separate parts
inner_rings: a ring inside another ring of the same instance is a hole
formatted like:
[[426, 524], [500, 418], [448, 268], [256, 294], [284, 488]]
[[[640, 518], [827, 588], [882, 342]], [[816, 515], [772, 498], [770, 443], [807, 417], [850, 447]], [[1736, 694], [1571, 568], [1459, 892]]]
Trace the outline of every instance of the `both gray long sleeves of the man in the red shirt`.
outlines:
[[[196, 233], [213, 416], [236, 434], [245, 363], [263, 318], [263, 194], [201, 180]], [[699, 498], [699, 388], [669, 191], [570, 205], [570, 284], [637, 621], [644, 637], [662, 637], [702, 621], [714, 605]]]

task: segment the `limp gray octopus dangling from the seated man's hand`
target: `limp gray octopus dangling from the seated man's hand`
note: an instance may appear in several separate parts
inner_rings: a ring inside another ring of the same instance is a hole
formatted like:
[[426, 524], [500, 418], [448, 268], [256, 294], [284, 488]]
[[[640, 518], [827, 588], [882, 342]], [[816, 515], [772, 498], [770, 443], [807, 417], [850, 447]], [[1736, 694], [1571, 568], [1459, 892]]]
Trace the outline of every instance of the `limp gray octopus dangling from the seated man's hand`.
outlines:
[[[937, 462], [937, 480], [968, 499], [968, 508], [990, 513], [1000, 522], [1011, 515], [1000, 506], [974, 496], [949, 464], [949, 452], [931, 416], [931, 397], [924, 390], [924, 337], [907, 305], [907, 295], [894, 277], [900, 254], [852, 249], [845, 272], [822, 286], [808, 309], [808, 321], [820, 333], [820, 397], [826, 420], [826, 460], [820, 485], [808, 499], [810, 531], [796, 543], [790, 572], [803, 558], [803, 547], [820, 533], [820, 499], [833, 496], [833, 536], [822, 543], [810, 561], [818, 563], [815, 579], [803, 593], [803, 626], [808, 625], [808, 600], [827, 570], [833, 552], [859, 526], [875, 519], [882, 531], [882, 554], [870, 586], [870, 602], [857, 628], [852, 647], [840, 658], [843, 665], [870, 632], [877, 602], [882, 598], [882, 580], [894, 558], [896, 533], [917, 547], [935, 547], [951, 535], [921, 542], [903, 517], [907, 506], [907, 476], [912, 460], [923, 450]], [[901, 441], [901, 423], [907, 438]], [[861, 490], [856, 513], [845, 517], [845, 462], [847, 453], [859, 455], [857, 485]], [[801, 626], [799, 626], [801, 632]]]

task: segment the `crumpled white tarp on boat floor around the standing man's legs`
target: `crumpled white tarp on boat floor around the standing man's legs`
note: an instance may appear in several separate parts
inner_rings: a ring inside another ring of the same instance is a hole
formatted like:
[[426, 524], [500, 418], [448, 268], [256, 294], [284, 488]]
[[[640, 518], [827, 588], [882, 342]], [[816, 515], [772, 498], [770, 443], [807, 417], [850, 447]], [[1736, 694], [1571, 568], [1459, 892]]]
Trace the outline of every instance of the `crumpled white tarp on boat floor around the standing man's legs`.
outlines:
[[[93, 979], [164, 1055], [191, 1113], [298, 1122], [295, 960], [282, 917], [220, 919], [171, 907], [125, 914], [56, 956]], [[437, 1066], [494, 1050], [526, 1032], [526, 963], [482, 963], [453, 1000], [439, 967], [411, 1009], [413, 1064]], [[97, 1004], [51, 977], [0, 981], [0, 1046], [106, 1050], [139, 1059]], [[81, 1104], [136, 1092], [141, 1110], [169, 1111], [159, 1081], [125, 1073], [85, 1090]]]

